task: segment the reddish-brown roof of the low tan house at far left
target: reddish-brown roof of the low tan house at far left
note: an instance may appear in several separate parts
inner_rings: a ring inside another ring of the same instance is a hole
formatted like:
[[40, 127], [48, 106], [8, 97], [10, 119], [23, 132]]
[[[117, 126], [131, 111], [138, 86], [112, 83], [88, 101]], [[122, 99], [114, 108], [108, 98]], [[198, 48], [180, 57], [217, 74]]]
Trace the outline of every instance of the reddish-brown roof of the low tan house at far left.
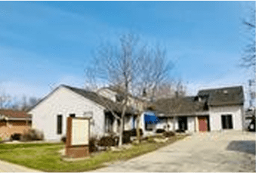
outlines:
[[26, 114], [26, 111], [14, 111], [11, 109], [0, 109], [1, 117], [8, 117], [11, 119], [30, 119], [31, 115]]

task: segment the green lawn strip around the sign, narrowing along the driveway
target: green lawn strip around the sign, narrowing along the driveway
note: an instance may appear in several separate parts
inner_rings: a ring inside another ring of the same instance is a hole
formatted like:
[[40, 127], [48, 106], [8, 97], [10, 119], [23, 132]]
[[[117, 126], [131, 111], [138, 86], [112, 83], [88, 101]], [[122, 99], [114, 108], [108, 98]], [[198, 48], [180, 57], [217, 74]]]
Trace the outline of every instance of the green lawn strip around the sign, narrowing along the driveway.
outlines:
[[0, 144], [0, 159], [25, 165], [47, 172], [78, 172], [101, 168], [108, 162], [127, 160], [148, 153], [177, 141], [184, 136], [170, 138], [165, 143], [140, 143], [122, 151], [106, 151], [91, 156], [90, 159], [66, 162], [61, 159], [59, 150], [64, 144]]

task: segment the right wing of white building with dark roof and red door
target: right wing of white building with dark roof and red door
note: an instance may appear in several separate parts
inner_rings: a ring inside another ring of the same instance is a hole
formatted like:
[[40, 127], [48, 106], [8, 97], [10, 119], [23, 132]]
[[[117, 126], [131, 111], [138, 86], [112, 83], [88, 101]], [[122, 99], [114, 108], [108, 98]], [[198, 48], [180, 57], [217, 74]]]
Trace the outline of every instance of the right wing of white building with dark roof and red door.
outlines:
[[242, 130], [243, 105], [242, 86], [199, 90], [197, 96], [159, 99], [151, 108], [160, 122], [150, 125], [150, 129], [142, 127], [145, 132], [156, 129], [181, 129], [189, 132]]

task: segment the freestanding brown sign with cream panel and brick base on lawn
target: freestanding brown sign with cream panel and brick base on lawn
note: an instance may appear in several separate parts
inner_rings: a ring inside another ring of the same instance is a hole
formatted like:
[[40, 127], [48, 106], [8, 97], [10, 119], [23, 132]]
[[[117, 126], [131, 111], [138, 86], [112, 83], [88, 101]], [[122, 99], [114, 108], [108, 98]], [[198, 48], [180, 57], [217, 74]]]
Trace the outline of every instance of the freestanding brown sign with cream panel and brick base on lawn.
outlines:
[[66, 120], [66, 156], [89, 156], [90, 118], [68, 117]]

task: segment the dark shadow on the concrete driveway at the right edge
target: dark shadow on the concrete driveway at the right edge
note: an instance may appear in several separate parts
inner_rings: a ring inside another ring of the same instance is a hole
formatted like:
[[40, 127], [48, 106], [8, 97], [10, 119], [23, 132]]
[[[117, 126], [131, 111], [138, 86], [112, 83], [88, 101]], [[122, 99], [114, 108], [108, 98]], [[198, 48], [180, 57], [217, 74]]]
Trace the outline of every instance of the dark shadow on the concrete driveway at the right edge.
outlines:
[[231, 141], [226, 149], [256, 155], [256, 141]]

